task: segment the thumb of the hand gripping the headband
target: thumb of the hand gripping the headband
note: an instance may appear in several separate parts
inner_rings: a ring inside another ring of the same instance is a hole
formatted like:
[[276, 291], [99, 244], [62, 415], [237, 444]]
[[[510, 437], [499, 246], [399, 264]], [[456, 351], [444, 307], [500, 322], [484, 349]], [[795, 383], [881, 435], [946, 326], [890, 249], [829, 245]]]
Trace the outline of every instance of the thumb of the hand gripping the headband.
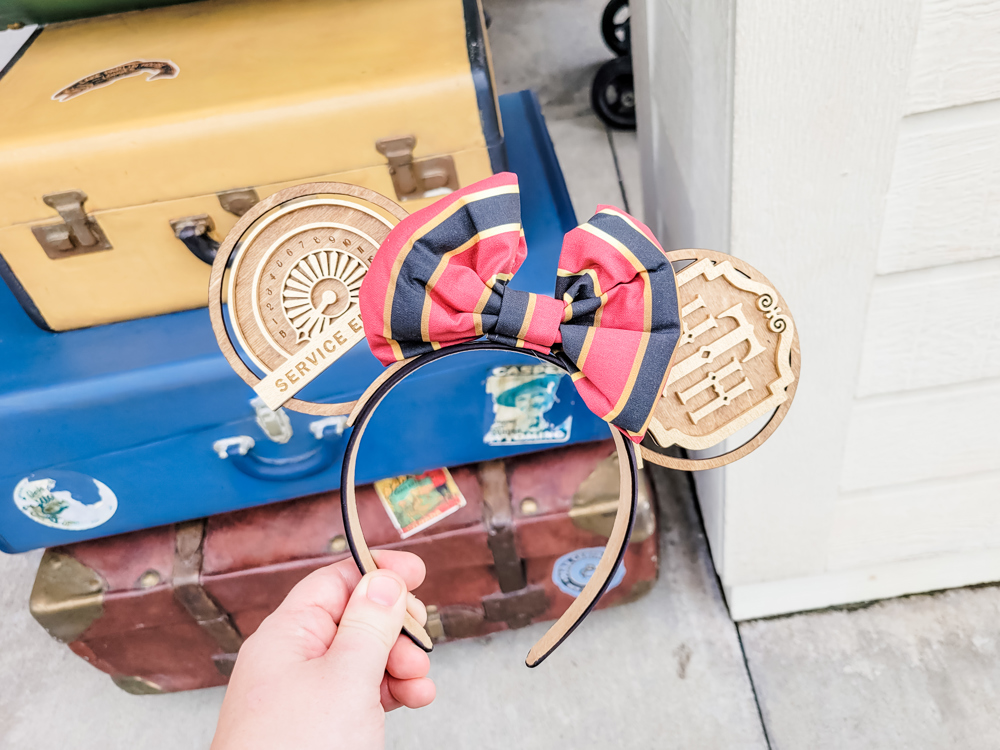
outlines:
[[351, 594], [326, 658], [355, 684], [376, 690], [382, 683], [389, 650], [403, 628], [406, 584], [396, 573], [366, 574]]

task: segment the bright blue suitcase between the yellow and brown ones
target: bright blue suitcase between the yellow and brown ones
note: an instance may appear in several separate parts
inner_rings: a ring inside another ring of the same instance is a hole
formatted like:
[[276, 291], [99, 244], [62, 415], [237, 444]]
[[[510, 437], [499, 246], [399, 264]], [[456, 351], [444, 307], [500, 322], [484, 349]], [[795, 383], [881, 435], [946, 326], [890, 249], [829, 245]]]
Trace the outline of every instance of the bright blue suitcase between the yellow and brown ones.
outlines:
[[[551, 294], [563, 234], [576, 225], [573, 208], [534, 95], [502, 96], [500, 111], [528, 245], [512, 286]], [[5, 552], [339, 486], [344, 418], [252, 403], [255, 394], [219, 352], [206, 310], [49, 333], [0, 288], [0, 362]], [[356, 399], [382, 369], [358, 344], [304, 396]], [[509, 421], [503, 410], [512, 399], [502, 389], [498, 395], [498, 382], [546, 391], [546, 429]], [[501, 412], [508, 421], [498, 429]], [[366, 432], [358, 482], [607, 435], [569, 377], [543, 372], [530, 355], [470, 353], [395, 389]]]

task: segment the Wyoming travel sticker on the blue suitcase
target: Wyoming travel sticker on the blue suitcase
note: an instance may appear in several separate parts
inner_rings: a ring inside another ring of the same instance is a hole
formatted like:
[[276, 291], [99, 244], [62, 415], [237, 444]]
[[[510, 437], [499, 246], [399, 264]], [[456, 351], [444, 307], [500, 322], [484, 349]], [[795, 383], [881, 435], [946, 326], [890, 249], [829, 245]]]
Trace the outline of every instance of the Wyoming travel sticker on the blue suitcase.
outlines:
[[565, 443], [572, 416], [562, 418], [556, 392], [566, 372], [550, 364], [495, 367], [486, 379], [490, 397], [487, 445]]

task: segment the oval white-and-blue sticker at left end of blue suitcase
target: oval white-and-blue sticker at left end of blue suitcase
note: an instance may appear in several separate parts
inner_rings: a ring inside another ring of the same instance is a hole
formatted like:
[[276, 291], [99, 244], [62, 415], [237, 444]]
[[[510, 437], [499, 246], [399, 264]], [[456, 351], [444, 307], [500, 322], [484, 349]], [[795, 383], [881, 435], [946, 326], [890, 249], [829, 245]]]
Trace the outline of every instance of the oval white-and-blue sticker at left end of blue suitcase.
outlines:
[[68, 531], [100, 526], [118, 510], [104, 482], [75, 471], [29, 474], [14, 487], [14, 504], [32, 521]]

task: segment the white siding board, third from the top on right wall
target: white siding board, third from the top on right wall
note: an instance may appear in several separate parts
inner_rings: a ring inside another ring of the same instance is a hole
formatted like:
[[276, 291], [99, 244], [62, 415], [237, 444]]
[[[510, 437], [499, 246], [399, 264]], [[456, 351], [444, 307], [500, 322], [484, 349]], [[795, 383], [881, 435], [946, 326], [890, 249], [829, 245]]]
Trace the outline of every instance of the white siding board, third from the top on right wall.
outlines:
[[875, 279], [858, 396], [1000, 378], [1000, 258]]

